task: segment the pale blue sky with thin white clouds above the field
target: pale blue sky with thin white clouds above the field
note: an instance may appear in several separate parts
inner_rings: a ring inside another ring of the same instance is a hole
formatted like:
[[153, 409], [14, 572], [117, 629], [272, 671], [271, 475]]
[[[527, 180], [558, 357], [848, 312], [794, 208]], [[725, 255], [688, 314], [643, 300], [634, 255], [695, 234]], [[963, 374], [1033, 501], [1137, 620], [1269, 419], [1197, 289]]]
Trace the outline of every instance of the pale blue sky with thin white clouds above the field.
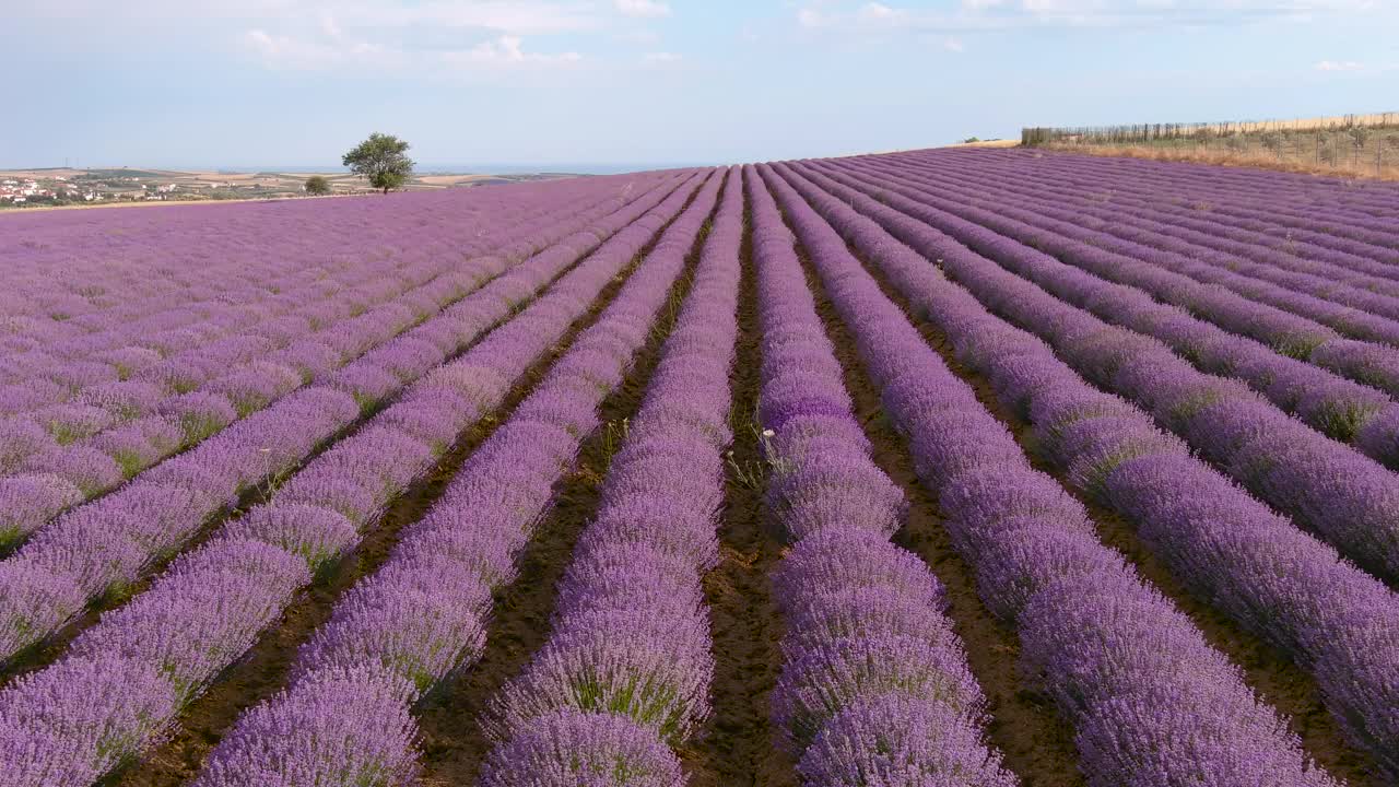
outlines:
[[1399, 111], [1399, 0], [0, 0], [0, 167], [723, 164]]

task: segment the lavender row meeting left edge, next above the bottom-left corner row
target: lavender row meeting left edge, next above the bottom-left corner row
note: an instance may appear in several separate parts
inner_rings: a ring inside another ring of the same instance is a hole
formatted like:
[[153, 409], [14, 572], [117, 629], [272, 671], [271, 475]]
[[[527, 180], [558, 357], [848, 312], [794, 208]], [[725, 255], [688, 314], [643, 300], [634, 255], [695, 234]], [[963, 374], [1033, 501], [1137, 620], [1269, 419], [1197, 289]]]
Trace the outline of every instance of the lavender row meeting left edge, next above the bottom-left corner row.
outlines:
[[[418, 377], [467, 347], [509, 316], [512, 304], [532, 297], [610, 232], [649, 210], [666, 190], [669, 185], [662, 182], [660, 193], [642, 195], [595, 227], [532, 256], [438, 318], [350, 364], [344, 371], [360, 374], [353, 394], [323, 385], [299, 391], [43, 528], [15, 556], [0, 563], [0, 654], [10, 657], [41, 641], [91, 599], [140, 577], [154, 560], [178, 550], [239, 489], [295, 468], [320, 443], [354, 423], [361, 415], [357, 401], [382, 402], [403, 388], [403, 379]], [[414, 351], [396, 354], [400, 344]], [[422, 347], [434, 351], [417, 351]], [[376, 363], [386, 368], [372, 365]], [[403, 377], [390, 371], [407, 368], [417, 371]], [[390, 410], [395, 419], [414, 419], [411, 406], [390, 408], [383, 415]], [[431, 430], [431, 424], [425, 420], [421, 426]], [[320, 465], [327, 469], [298, 473], [278, 490], [278, 500], [291, 500], [288, 496], [301, 486], [311, 492], [318, 486], [346, 486], [343, 471], [332, 469], [333, 462]], [[347, 499], [339, 510], [362, 518], [378, 494], [365, 497], [355, 489], [346, 487]]]

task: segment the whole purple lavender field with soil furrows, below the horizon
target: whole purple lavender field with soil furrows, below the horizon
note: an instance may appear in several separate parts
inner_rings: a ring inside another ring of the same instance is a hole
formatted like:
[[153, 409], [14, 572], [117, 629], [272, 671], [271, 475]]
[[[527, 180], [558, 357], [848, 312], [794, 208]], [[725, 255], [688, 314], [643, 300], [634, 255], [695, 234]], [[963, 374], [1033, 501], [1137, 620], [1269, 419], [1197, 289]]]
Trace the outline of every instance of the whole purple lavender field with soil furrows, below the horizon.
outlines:
[[1399, 186], [0, 217], [0, 787], [1399, 784]]

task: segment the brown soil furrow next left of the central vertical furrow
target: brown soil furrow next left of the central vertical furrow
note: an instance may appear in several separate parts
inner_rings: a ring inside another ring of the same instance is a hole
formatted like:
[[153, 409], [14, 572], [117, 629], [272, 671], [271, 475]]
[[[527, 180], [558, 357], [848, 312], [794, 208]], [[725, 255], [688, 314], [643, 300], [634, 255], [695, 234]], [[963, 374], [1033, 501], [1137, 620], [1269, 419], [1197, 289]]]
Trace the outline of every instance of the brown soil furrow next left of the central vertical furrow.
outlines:
[[[691, 195], [686, 209], [694, 202], [694, 196]], [[651, 252], [669, 225], [667, 221], [656, 232], [635, 262]], [[555, 485], [553, 506], [519, 559], [519, 576], [497, 592], [481, 658], [443, 681], [418, 703], [416, 713], [421, 732], [424, 787], [474, 784], [478, 779], [492, 748], [481, 721], [490, 717], [491, 703], [501, 689], [520, 674], [548, 640], [555, 587], [572, 562], [579, 535], [597, 511], [611, 451], [617, 448], [611, 437], [623, 420], [635, 415], [641, 406], [651, 375], [660, 363], [665, 339], [690, 290], [698, 249], [706, 231], [708, 224], [698, 234], [684, 270], [672, 286], [645, 344], [632, 357], [632, 365], [621, 385], [603, 399], [599, 408], [602, 426], [583, 440], [576, 465]], [[614, 431], [609, 434], [609, 430]]]

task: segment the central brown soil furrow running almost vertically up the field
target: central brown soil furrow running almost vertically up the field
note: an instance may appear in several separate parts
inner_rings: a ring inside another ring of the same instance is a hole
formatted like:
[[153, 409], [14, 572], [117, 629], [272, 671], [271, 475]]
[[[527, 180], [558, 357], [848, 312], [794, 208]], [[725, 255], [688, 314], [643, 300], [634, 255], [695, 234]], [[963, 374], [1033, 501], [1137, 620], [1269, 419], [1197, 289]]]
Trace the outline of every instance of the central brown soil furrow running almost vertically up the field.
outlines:
[[712, 616], [715, 713], [700, 738], [680, 752], [693, 787], [796, 784], [790, 758], [775, 745], [776, 730], [768, 713], [768, 695], [782, 667], [782, 622], [768, 577], [782, 555], [782, 542], [764, 504], [767, 473], [757, 423], [762, 333], [744, 216], [739, 339], [730, 374], [733, 454], [719, 521], [720, 563], [704, 583]]

